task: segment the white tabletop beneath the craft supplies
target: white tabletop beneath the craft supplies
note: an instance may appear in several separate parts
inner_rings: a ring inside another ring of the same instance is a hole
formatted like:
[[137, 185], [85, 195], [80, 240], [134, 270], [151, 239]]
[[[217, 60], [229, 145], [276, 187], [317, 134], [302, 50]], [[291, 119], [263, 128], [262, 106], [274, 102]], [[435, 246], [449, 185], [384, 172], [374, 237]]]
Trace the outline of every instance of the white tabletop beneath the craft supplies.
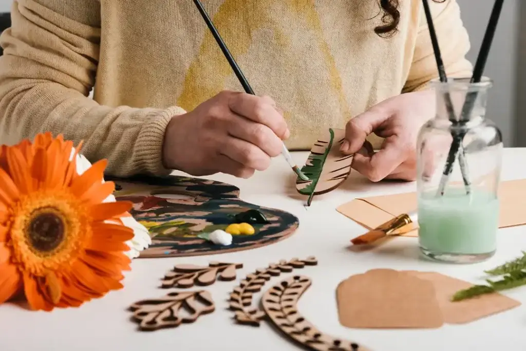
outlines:
[[[294, 153], [304, 164], [307, 153]], [[526, 178], [526, 148], [505, 149], [502, 180]], [[318, 266], [296, 270], [312, 279], [300, 299], [299, 310], [322, 332], [355, 340], [374, 351], [464, 351], [526, 350], [526, 305], [466, 325], [444, 325], [439, 329], [374, 330], [349, 329], [338, 322], [335, 289], [353, 274], [373, 268], [417, 269], [444, 273], [477, 282], [484, 269], [521, 255], [526, 249], [526, 226], [500, 229], [498, 252], [487, 262], [449, 265], [419, 257], [416, 238], [397, 238], [373, 252], [353, 253], [349, 240], [365, 230], [339, 214], [336, 207], [356, 197], [412, 192], [414, 183], [377, 183], [353, 172], [339, 189], [317, 196], [309, 208], [305, 197], [296, 193], [294, 175], [286, 162], [276, 158], [270, 169], [248, 180], [226, 175], [212, 179], [235, 184], [241, 198], [254, 204], [287, 210], [299, 218], [299, 228], [291, 237], [266, 247], [214, 256], [136, 259], [126, 274], [124, 289], [86, 303], [80, 308], [56, 309], [52, 313], [31, 312], [12, 304], [0, 306], [1, 351], [160, 351], [184, 350], [296, 350], [265, 322], [257, 327], [236, 325], [227, 310], [230, 290], [239, 279], [258, 267], [279, 259], [315, 255]], [[526, 208], [525, 208], [526, 211]], [[168, 291], [159, 279], [179, 263], [207, 265], [210, 260], [243, 263], [236, 282], [217, 282], [207, 287], [216, 302], [216, 311], [194, 324], [156, 332], [138, 332], [129, 321], [126, 308], [140, 299], [155, 298]], [[283, 274], [265, 285], [290, 276]], [[506, 293], [526, 304], [526, 287]], [[255, 301], [259, 300], [255, 295]]]

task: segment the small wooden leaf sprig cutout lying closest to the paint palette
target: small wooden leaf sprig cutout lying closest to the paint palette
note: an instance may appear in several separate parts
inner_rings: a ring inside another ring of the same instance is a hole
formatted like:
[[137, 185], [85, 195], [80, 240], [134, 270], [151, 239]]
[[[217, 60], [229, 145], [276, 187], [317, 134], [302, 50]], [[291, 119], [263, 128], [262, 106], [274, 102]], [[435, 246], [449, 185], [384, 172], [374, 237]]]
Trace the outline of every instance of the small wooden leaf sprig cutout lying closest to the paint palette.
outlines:
[[176, 265], [163, 278], [162, 288], [190, 288], [194, 285], [211, 285], [219, 280], [236, 279], [236, 269], [242, 268], [241, 263], [210, 262], [208, 267], [196, 265]]

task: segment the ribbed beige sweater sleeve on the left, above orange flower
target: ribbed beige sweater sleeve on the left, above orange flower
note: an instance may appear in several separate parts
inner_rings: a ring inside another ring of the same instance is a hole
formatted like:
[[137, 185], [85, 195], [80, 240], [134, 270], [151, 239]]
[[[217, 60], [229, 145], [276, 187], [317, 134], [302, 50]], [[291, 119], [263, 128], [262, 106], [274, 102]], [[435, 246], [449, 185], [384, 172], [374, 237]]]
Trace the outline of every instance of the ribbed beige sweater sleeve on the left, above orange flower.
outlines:
[[17, 0], [0, 45], [0, 143], [49, 131], [78, 144], [91, 162], [108, 159], [107, 174], [165, 175], [167, 109], [108, 107], [89, 98], [100, 43], [99, 0]]

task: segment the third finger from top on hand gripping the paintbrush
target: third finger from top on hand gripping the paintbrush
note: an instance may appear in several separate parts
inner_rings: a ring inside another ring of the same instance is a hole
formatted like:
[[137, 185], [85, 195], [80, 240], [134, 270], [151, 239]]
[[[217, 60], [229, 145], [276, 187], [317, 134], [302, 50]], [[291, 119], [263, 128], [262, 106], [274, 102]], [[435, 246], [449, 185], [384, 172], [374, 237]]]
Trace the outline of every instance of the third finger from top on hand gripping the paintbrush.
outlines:
[[265, 171], [270, 166], [270, 157], [259, 147], [232, 136], [227, 137], [221, 154], [257, 171]]

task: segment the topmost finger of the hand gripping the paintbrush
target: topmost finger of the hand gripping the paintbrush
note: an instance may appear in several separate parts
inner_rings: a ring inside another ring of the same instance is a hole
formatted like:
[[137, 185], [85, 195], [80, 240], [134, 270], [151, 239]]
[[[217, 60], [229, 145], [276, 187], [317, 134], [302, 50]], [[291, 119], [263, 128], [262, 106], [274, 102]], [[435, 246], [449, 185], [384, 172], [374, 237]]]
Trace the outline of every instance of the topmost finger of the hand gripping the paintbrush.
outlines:
[[277, 111], [276, 103], [270, 97], [235, 94], [229, 99], [228, 106], [232, 112], [266, 125], [282, 140], [290, 135], [285, 119]]

